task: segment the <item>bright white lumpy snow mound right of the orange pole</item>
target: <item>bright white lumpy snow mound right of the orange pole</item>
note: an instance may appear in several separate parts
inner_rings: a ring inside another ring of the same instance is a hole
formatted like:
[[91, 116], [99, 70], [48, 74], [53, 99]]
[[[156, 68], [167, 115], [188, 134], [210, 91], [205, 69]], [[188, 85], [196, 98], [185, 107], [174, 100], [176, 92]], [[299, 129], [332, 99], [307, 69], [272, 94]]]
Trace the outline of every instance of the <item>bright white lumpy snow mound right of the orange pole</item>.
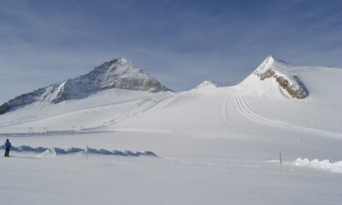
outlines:
[[330, 159], [320, 161], [319, 159], [298, 158], [293, 162], [297, 166], [316, 167], [321, 169], [331, 169], [332, 172], [342, 173], [342, 161], [334, 163]]

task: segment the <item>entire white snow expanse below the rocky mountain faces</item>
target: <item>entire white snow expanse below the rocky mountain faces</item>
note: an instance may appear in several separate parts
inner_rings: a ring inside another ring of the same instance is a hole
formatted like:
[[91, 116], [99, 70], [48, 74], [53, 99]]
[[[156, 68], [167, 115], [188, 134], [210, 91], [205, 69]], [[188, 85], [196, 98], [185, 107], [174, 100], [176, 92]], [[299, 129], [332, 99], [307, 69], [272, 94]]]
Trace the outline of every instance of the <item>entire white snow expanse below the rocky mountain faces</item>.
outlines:
[[0, 204], [341, 204], [342, 72], [287, 69], [308, 98], [251, 75], [0, 115]]

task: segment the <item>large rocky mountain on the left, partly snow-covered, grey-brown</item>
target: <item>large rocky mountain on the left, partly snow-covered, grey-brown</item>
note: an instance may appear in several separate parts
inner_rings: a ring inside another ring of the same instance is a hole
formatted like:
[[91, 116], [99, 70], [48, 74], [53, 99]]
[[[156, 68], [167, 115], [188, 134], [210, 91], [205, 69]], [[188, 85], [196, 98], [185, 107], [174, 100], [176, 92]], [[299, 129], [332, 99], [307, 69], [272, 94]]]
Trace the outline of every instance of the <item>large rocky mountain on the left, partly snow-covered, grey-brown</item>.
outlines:
[[83, 74], [75, 79], [68, 79], [62, 83], [55, 83], [17, 96], [0, 106], [0, 115], [14, 107], [33, 102], [59, 103], [70, 99], [86, 98], [94, 92], [111, 88], [150, 93], [171, 91], [131, 61], [120, 57], [107, 61], [88, 74]]

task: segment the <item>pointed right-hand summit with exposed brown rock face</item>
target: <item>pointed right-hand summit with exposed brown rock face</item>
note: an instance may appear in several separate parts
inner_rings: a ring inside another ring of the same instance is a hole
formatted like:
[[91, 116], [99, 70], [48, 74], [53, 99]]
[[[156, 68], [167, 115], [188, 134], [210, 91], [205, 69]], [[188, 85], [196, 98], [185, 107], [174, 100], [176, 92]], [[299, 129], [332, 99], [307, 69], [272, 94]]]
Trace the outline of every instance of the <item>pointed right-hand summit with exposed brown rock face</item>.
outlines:
[[287, 69], [289, 67], [292, 66], [269, 55], [253, 74], [260, 77], [261, 81], [274, 77], [280, 87], [284, 88], [293, 98], [306, 98], [308, 90], [295, 74], [289, 72]]

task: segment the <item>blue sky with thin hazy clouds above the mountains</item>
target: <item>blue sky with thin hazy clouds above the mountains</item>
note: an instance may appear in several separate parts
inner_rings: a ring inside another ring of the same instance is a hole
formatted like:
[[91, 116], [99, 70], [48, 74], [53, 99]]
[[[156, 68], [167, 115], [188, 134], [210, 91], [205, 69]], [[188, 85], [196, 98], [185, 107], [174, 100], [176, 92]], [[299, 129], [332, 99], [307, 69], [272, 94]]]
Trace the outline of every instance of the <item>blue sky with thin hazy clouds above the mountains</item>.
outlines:
[[0, 0], [0, 104], [126, 57], [179, 92], [267, 57], [342, 68], [342, 1]]

